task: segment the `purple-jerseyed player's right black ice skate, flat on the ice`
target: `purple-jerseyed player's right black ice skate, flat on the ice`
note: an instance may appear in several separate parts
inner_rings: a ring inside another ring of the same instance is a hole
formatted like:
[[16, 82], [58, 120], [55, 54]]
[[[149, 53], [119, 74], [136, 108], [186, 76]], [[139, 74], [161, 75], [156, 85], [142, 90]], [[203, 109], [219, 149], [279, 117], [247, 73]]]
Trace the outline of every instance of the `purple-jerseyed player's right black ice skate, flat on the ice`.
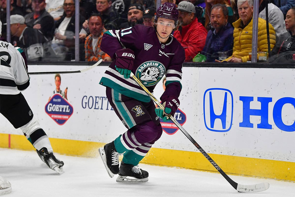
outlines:
[[[130, 178], [131, 177], [131, 178]], [[132, 165], [125, 164], [123, 161], [120, 165], [119, 176], [116, 180], [118, 183], [140, 183], [148, 181], [148, 172]]]

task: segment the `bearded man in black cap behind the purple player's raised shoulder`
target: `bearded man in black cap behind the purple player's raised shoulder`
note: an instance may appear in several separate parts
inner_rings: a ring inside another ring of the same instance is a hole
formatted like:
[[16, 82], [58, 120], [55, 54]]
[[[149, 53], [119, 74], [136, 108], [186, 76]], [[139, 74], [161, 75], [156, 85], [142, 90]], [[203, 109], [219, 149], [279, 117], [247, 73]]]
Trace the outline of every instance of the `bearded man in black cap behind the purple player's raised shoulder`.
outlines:
[[124, 29], [127, 27], [134, 27], [137, 24], [143, 23], [143, 6], [141, 4], [131, 4], [128, 7], [127, 13], [127, 22], [122, 23], [119, 25], [119, 29]]

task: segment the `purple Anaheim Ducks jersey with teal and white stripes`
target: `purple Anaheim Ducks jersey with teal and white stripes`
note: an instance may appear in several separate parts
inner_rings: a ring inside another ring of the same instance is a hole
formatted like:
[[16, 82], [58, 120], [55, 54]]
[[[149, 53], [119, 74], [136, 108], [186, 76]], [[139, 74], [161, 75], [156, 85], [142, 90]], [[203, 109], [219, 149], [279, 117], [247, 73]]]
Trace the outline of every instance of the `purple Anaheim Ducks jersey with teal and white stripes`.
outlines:
[[[109, 30], [104, 33], [101, 50], [116, 59], [116, 51], [130, 48], [135, 59], [132, 73], [142, 84], [153, 92], [155, 85], [166, 76], [166, 90], [163, 96], [179, 97], [181, 91], [182, 64], [185, 53], [180, 43], [171, 35], [168, 43], [160, 43], [155, 29], [144, 25], [135, 25], [122, 30]], [[116, 61], [105, 71], [100, 84], [113, 88], [123, 95], [142, 102], [150, 97], [131, 78], [125, 79], [115, 69]]]

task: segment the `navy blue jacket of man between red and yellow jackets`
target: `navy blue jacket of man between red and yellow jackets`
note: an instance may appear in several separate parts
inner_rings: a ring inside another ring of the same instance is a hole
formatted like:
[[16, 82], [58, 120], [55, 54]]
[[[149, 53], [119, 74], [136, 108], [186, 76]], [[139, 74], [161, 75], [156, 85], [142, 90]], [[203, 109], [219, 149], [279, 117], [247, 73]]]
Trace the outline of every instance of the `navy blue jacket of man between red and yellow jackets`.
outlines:
[[201, 54], [207, 57], [206, 62], [218, 60], [218, 52], [228, 52], [227, 56], [232, 55], [234, 28], [227, 23], [219, 32], [215, 29], [209, 30], [206, 38], [206, 44]]

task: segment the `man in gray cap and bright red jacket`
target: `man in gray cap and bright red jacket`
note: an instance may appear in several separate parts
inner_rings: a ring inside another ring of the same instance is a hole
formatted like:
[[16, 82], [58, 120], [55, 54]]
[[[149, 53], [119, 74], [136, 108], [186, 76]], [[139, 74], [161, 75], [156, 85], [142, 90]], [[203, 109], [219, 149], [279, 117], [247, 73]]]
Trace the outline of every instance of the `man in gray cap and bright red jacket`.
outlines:
[[198, 22], [195, 6], [191, 2], [181, 1], [178, 4], [178, 12], [180, 27], [173, 36], [184, 48], [185, 61], [192, 61], [205, 46], [207, 30]]

